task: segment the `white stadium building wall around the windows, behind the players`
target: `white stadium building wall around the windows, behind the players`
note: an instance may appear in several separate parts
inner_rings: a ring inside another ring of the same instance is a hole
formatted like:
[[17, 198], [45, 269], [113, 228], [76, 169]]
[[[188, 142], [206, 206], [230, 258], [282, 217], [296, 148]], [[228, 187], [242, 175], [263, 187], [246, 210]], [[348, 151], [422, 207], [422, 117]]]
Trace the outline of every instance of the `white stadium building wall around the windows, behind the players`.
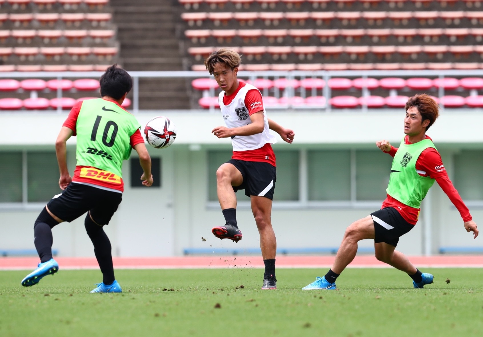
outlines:
[[[199, 249], [202, 252], [225, 250], [231, 254], [233, 250], [242, 253], [245, 249], [258, 249], [253, 215], [243, 202], [239, 203], [237, 210], [243, 240], [235, 244], [216, 239], [211, 234], [212, 226], [223, 224], [224, 219], [216, 202], [208, 202], [207, 151], [229, 149], [229, 140], [219, 140], [210, 133], [214, 126], [223, 124], [219, 113], [143, 112], [137, 118], [144, 125], [160, 114], [170, 117], [175, 123], [178, 136], [170, 148], [149, 148], [153, 158], [161, 158], [161, 187], [130, 187], [130, 165], [125, 162], [123, 201], [111, 224], [105, 227], [114, 255], [173, 256], [182, 255], [185, 249]], [[0, 134], [0, 153], [53, 151], [58, 130], [66, 116], [66, 113], [55, 112], [1, 112], [3, 133]], [[274, 145], [275, 151], [373, 149], [376, 140], [388, 139], [397, 146], [403, 136], [403, 111], [269, 112], [269, 117], [293, 128], [296, 133], [294, 144], [279, 141]], [[481, 126], [482, 112], [443, 111], [429, 130], [428, 134], [435, 141], [450, 178], [453, 178], [455, 154], [465, 149], [483, 149]], [[75, 138], [69, 140], [68, 144], [72, 171], [75, 166]], [[384, 154], [381, 153], [381, 156]], [[277, 164], [279, 167], [284, 165], [282, 162]], [[286, 250], [290, 253], [291, 250], [295, 252], [302, 248], [314, 251], [316, 248], [337, 248], [345, 228], [377, 210], [381, 202], [382, 199], [346, 207], [330, 203], [314, 206], [304, 202], [274, 202], [272, 223], [279, 252]], [[482, 224], [483, 201], [472, 201], [469, 205], [473, 219], [477, 224]], [[0, 203], [0, 251], [34, 248], [32, 228], [41, 209], [42, 204]], [[71, 224], [60, 224], [53, 232], [53, 248], [58, 250], [59, 255], [94, 256], [91, 242], [85, 234], [84, 218]], [[426, 238], [427, 233], [431, 234], [430, 239]], [[420, 221], [414, 230], [400, 240], [398, 249], [408, 255], [438, 253], [440, 247], [482, 247], [481, 240], [473, 240], [464, 230], [459, 213], [435, 184], [424, 201]], [[370, 251], [372, 241], [363, 241], [359, 247]]]

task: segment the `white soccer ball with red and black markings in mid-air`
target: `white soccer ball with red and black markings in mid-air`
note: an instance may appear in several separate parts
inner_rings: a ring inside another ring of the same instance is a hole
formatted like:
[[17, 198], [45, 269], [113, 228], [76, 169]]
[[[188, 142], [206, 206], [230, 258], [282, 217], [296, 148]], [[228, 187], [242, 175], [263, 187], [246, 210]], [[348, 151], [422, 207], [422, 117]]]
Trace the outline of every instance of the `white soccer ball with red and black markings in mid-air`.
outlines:
[[149, 145], [156, 149], [164, 149], [176, 139], [176, 126], [168, 117], [157, 116], [146, 123], [144, 135]]

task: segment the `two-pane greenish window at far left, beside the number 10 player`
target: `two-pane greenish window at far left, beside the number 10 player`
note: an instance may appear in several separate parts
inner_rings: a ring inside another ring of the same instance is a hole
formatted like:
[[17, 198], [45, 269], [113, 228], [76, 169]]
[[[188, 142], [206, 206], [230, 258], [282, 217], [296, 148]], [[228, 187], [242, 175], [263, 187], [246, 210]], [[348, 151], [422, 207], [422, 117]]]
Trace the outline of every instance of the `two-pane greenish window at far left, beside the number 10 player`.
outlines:
[[0, 152], [0, 203], [47, 202], [61, 192], [55, 152]]

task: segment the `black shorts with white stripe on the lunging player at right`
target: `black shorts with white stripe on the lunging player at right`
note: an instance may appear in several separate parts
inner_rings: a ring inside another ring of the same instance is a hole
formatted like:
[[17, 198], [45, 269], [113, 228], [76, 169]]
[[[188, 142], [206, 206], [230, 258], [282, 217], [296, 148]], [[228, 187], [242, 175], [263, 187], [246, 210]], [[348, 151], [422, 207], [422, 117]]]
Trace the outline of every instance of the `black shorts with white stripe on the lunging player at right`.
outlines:
[[375, 243], [385, 242], [396, 247], [399, 237], [414, 228], [414, 225], [404, 220], [398, 210], [393, 207], [385, 207], [370, 215], [372, 216], [372, 221], [374, 221], [374, 230], [376, 232]]

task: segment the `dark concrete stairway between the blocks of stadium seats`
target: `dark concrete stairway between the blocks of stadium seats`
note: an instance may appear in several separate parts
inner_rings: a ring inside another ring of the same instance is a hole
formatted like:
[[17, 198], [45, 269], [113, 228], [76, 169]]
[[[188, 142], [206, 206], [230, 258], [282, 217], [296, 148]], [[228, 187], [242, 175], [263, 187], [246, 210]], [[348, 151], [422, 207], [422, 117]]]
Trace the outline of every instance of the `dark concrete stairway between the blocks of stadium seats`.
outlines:
[[[180, 7], [174, 0], [110, 2], [126, 70], [183, 70], [176, 38]], [[140, 109], [189, 109], [190, 81], [140, 80]]]

